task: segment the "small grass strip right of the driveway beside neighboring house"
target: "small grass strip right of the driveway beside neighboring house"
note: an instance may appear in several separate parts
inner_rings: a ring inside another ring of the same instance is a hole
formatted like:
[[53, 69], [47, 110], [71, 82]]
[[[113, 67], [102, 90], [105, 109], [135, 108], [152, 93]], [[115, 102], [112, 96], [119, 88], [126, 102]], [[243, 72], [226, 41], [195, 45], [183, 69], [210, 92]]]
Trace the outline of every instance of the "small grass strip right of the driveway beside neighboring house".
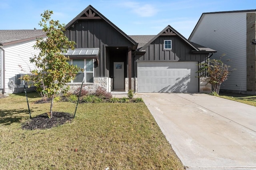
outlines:
[[256, 96], [236, 93], [220, 93], [219, 97], [234, 100], [236, 102], [256, 106]]

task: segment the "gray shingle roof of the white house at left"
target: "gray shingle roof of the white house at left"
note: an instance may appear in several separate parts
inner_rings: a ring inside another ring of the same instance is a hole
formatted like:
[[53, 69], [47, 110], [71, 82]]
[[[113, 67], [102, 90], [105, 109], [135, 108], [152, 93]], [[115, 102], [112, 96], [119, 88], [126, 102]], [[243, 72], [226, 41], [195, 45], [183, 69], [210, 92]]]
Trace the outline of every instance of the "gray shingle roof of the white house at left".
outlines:
[[39, 37], [46, 37], [42, 29], [0, 30], [0, 45], [10, 45]]

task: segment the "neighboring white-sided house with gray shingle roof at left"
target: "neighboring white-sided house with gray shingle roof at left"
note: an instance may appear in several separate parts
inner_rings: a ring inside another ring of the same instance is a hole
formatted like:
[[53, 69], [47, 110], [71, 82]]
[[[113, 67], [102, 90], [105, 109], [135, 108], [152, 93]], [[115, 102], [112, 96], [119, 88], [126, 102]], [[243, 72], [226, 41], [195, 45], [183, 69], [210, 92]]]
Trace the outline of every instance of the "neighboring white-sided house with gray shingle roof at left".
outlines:
[[[24, 85], [19, 77], [35, 68], [29, 60], [39, 53], [33, 47], [38, 37], [46, 37], [45, 32], [36, 29], [0, 30], [0, 93], [10, 94], [23, 90]], [[15, 88], [12, 89], [14, 84]]]

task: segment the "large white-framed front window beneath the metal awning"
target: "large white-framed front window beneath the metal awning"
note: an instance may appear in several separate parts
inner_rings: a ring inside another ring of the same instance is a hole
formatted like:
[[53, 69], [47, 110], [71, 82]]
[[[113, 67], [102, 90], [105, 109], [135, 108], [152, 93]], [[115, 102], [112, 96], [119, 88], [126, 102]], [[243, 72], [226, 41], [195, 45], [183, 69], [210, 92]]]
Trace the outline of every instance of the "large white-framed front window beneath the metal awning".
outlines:
[[84, 72], [78, 72], [78, 74], [76, 74], [76, 78], [72, 80], [71, 83], [82, 82], [83, 79], [84, 82], [93, 82], [93, 59], [71, 59], [68, 63], [84, 68]]

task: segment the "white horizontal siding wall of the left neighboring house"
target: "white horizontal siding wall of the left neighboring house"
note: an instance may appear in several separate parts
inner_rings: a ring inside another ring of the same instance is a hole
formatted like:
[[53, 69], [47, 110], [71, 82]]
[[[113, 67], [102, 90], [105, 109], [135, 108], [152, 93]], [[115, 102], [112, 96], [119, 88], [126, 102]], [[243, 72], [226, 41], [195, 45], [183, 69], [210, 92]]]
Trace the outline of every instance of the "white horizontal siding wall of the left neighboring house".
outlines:
[[[12, 90], [8, 88], [8, 82], [14, 80], [16, 74], [27, 74], [30, 70], [35, 69], [35, 65], [30, 63], [30, 57], [38, 55], [39, 51], [35, 50], [33, 45], [35, 41], [26, 41], [22, 43], [16, 43], [12, 45], [4, 46], [5, 50], [5, 91], [6, 93], [12, 93]], [[22, 71], [19, 65], [22, 66]], [[16, 82], [15, 82], [16, 83]], [[17, 85], [16, 85], [17, 87]], [[21, 84], [19, 87], [23, 87]]]

